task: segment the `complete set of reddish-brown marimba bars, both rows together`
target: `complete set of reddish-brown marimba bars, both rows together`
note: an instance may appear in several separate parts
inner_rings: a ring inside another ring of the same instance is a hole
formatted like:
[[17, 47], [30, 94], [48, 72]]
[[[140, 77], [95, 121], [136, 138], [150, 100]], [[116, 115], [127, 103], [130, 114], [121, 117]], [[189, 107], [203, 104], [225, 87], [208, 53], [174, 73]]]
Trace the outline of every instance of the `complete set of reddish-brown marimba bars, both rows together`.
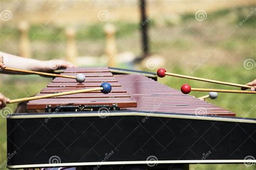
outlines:
[[85, 74], [85, 82], [77, 83], [72, 79], [56, 77], [42, 89], [38, 96], [70, 90], [98, 87], [102, 82], [112, 85], [111, 93], [104, 95], [99, 91], [58, 96], [31, 101], [29, 109], [44, 109], [47, 105], [112, 105], [118, 104], [121, 110], [165, 112], [172, 114], [192, 114], [235, 116], [226, 109], [219, 108], [199, 98], [185, 95], [180, 91], [160, 84], [140, 74], [112, 75], [108, 68], [69, 68], [64, 73], [68, 76]]

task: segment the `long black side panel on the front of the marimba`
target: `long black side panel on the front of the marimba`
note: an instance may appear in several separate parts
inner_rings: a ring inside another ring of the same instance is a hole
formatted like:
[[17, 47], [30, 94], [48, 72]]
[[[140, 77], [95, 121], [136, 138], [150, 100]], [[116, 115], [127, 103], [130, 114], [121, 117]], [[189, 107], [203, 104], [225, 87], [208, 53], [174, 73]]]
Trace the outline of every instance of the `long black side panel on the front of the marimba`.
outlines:
[[8, 119], [8, 165], [256, 158], [255, 124], [109, 116]]

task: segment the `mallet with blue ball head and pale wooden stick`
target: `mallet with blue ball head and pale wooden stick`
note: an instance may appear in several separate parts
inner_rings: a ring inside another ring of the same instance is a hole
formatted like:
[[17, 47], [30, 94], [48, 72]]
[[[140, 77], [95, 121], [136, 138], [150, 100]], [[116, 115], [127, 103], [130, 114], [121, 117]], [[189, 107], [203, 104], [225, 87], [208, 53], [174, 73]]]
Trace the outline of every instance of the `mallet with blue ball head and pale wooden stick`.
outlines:
[[66, 92], [62, 92], [62, 93], [55, 93], [55, 94], [49, 94], [49, 95], [18, 98], [18, 99], [15, 99], [15, 100], [10, 100], [10, 102], [8, 104], [17, 103], [17, 102], [32, 101], [32, 100], [37, 100], [37, 99], [41, 99], [41, 98], [71, 95], [71, 94], [77, 94], [77, 93], [86, 93], [86, 92], [98, 91], [98, 90], [102, 91], [102, 93], [104, 93], [104, 94], [108, 94], [108, 93], [110, 93], [111, 89], [112, 89], [112, 87], [111, 87], [110, 83], [104, 82], [100, 85], [100, 87], [97, 87], [97, 88], [73, 90], [73, 91], [66, 91]]

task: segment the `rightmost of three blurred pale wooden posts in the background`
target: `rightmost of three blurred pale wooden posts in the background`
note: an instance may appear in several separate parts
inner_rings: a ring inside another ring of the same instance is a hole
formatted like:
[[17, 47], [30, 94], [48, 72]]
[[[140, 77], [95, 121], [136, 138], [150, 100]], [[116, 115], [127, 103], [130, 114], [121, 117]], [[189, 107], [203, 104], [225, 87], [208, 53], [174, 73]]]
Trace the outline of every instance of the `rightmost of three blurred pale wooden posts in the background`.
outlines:
[[106, 55], [107, 55], [107, 66], [116, 67], [116, 55], [117, 55], [117, 45], [114, 34], [116, 33], [116, 28], [112, 24], [107, 24], [104, 27], [106, 33]]

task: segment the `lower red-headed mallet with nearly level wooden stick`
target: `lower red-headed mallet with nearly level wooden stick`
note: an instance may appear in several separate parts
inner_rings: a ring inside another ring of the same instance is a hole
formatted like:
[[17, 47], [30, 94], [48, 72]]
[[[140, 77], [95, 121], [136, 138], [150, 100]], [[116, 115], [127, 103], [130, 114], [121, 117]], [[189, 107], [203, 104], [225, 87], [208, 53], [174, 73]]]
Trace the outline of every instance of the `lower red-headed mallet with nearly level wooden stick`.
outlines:
[[244, 90], [224, 90], [224, 89], [202, 89], [202, 88], [191, 88], [188, 84], [183, 84], [180, 88], [181, 92], [188, 94], [191, 91], [215, 91], [220, 93], [243, 93], [243, 94], [256, 94], [256, 91], [244, 91]]

